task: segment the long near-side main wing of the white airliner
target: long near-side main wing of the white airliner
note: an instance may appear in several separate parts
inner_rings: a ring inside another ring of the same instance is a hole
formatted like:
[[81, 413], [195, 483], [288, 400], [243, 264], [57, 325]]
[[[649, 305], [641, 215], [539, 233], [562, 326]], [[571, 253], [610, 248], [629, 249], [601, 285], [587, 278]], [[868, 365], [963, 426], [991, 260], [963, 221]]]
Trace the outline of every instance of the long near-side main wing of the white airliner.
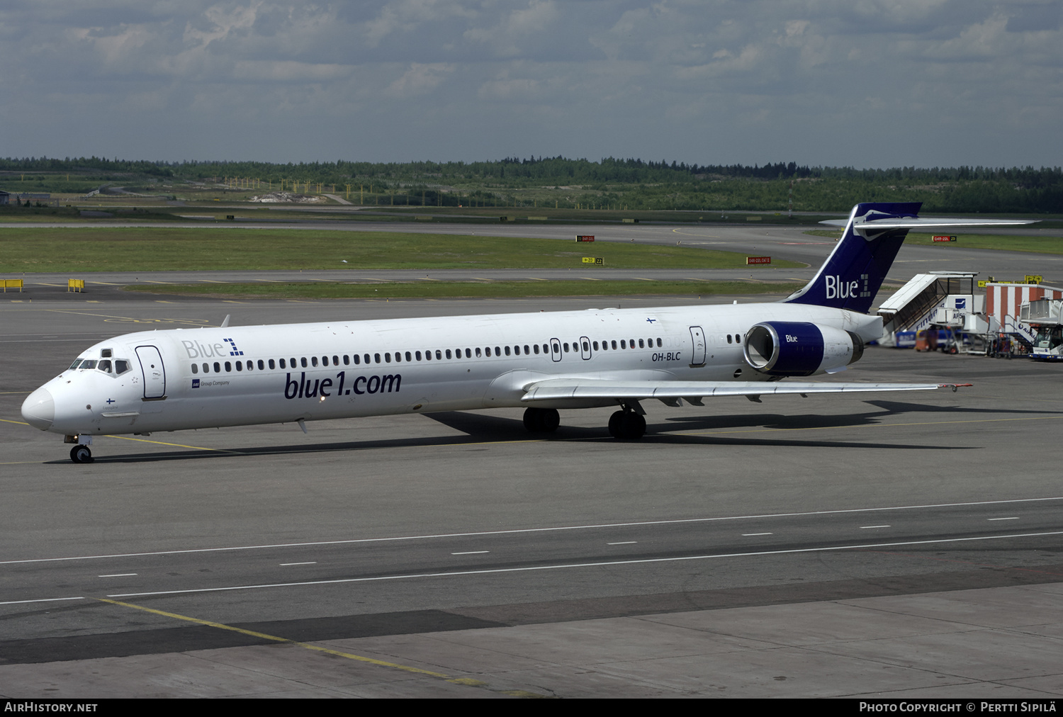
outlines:
[[870, 391], [930, 391], [971, 383], [820, 383], [813, 381], [613, 381], [595, 378], [552, 378], [525, 388], [523, 403], [566, 398], [676, 398], [704, 396], [762, 396], [772, 394], [858, 393]]

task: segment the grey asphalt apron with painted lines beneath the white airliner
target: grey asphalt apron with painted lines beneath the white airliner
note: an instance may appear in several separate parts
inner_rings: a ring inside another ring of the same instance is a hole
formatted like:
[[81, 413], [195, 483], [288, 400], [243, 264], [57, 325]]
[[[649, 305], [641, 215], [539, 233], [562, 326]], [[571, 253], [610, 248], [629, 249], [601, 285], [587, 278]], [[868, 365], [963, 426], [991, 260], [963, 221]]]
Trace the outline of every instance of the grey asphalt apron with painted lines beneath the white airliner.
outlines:
[[679, 300], [43, 295], [0, 302], [4, 697], [1063, 695], [1063, 366], [870, 348], [833, 379], [975, 386], [647, 402], [635, 443], [496, 410], [75, 465], [19, 406], [118, 334]]

